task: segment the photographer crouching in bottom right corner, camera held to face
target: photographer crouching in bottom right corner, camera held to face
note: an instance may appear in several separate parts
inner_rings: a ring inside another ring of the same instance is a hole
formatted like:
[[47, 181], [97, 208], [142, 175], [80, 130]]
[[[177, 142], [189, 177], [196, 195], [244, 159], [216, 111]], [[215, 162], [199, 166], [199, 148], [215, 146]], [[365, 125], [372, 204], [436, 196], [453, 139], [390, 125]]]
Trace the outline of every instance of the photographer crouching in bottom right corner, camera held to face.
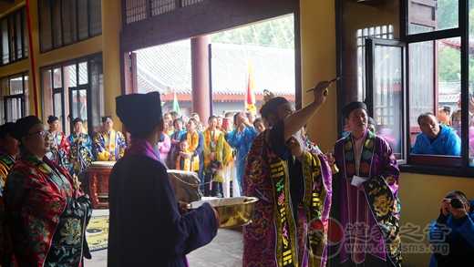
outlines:
[[430, 267], [464, 266], [474, 252], [474, 212], [466, 195], [454, 190], [442, 200], [437, 221], [429, 228], [433, 246]]

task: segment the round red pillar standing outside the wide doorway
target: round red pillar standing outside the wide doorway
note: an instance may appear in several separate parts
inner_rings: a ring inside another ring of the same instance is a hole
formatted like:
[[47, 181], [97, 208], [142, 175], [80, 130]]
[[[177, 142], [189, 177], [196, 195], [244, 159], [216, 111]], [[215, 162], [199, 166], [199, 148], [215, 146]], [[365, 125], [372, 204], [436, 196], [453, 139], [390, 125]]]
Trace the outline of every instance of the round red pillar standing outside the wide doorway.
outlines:
[[208, 50], [210, 41], [210, 36], [191, 38], [192, 110], [199, 114], [204, 125], [211, 115]]

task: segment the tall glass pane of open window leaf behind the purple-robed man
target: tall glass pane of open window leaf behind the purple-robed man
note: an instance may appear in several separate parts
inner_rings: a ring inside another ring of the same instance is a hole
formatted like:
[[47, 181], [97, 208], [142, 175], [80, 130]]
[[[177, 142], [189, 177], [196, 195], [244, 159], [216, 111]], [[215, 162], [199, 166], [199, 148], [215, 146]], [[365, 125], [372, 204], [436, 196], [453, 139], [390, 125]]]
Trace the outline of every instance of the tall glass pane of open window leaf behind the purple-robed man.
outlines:
[[376, 46], [374, 66], [374, 120], [376, 134], [386, 139], [397, 159], [403, 155], [403, 50]]

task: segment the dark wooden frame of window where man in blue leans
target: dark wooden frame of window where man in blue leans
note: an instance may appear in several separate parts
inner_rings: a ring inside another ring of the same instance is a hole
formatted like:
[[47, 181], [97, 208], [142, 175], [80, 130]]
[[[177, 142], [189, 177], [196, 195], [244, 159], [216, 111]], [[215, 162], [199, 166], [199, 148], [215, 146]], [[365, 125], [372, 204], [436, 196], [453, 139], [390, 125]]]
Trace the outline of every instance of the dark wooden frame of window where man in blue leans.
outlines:
[[[449, 28], [443, 30], [435, 30], [432, 32], [425, 32], [419, 34], [409, 34], [409, 14], [408, 6], [410, 0], [401, 0], [400, 12], [400, 39], [407, 43], [407, 46], [414, 43], [436, 42], [438, 40], [459, 37], [461, 40], [460, 51], [460, 68], [461, 68], [461, 108], [464, 110], [461, 117], [461, 156], [436, 156], [436, 155], [413, 155], [407, 151], [407, 164], [401, 165], [403, 171], [414, 173], [425, 173], [435, 175], [448, 175], [459, 177], [474, 177], [474, 168], [469, 166], [469, 4], [468, 1], [459, 1], [459, 26], [457, 28]], [[437, 49], [435, 46], [435, 67], [437, 64]], [[407, 49], [407, 102], [406, 102], [406, 126], [407, 126], [407, 144], [410, 141], [410, 83], [409, 83], [409, 49]], [[435, 80], [435, 113], [438, 113], [438, 83], [437, 77]]]

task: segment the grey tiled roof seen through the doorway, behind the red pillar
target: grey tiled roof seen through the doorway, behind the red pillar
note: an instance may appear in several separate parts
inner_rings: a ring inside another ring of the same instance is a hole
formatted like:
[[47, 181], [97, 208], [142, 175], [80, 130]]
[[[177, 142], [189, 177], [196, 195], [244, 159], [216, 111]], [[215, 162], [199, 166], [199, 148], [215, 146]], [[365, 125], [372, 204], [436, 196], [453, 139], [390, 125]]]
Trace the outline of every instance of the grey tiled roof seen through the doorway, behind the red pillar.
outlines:
[[[139, 92], [159, 90], [191, 94], [189, 40], [153, 46], [137, 52]], [[276, 95], [294, 95], [294, 50], [263, 46], [212, 44], [212, 91], [244, 95], [248, 62], [252, 62], [255, 93], [268, 89]]]

